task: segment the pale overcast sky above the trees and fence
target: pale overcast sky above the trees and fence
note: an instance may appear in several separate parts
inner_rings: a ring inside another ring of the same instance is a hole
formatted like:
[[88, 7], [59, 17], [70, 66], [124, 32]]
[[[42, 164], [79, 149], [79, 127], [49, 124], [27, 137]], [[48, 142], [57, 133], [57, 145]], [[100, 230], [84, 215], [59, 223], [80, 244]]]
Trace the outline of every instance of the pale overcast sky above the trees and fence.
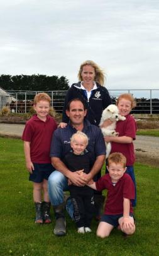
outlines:
[[0, 0], [0, 75], [66, 76], [92, 59], [110, 89], [159, 88], [158, 0]]

